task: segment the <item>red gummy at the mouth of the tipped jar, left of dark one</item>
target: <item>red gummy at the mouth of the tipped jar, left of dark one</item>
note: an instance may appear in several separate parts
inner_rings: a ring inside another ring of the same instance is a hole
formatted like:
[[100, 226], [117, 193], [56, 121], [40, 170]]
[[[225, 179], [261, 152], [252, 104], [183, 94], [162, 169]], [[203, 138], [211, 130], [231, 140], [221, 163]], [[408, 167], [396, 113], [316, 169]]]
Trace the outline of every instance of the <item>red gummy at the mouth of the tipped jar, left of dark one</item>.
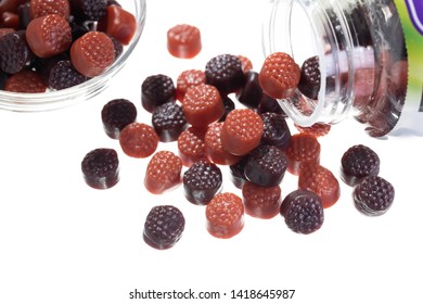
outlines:
[[258, 75], [265, 93], [274, 99], [284, 99], [295, 93], [300, 76], [299, 66], [286, 53], [268, 55]]

